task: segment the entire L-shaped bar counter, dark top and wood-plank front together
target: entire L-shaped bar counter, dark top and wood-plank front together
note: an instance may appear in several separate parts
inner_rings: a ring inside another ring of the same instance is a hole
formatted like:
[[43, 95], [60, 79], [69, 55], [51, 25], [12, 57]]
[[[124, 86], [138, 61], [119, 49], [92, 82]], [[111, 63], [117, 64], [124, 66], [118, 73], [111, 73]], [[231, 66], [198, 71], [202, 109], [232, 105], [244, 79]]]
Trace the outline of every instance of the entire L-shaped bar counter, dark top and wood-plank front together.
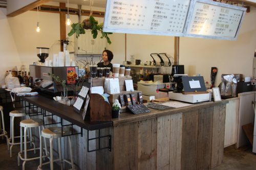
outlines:
[[[125, 112], [112, 122], [97, 123], [83, 122], [73, 107], [42, 96], [25, 100], [92, 131], [91, 138], [111, 135], [111, 151], [96, 152], [88, 152], [85, 132], [82, 137], [73, 135], [77, 169], [211, 169], [223, 159], [225, 100], [164, 111], [150, 108], [150, 113], [137, 115]], [[96, 129], [101, 130], [93, 131]], [[108, 144], [108, 139], [100, 139], [100, 144], [99, 140], [90, 142], [90, 148]], [[64, 153], [68, 157], [66, 150]]]

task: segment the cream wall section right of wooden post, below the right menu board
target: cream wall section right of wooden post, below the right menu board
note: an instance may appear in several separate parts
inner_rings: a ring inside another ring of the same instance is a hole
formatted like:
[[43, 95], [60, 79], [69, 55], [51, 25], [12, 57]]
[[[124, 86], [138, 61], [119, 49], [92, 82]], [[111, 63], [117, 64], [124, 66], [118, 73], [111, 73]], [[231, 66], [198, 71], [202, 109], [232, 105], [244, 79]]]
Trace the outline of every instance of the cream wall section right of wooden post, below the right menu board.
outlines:
[[201, 38], [180, 38], [179, 64], [185, 65], [185, 73], [201, 74], [210, 82], [210, 69], [218, 68], [215, 85], [221, 82], [221, 74], [252, 76], [252, 63], [256, 49], [256, 8], [246, 13], [237, 41]]

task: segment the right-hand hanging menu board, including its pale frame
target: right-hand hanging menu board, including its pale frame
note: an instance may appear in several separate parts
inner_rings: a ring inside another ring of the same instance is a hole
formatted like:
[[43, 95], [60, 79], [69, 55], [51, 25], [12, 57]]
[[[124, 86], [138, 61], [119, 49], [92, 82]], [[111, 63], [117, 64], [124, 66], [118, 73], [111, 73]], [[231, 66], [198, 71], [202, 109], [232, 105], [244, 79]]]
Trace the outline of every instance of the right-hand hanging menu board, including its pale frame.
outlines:
[[236, 40], [245, 11], [238, 6], [196, 0], [189, 12], [186, 36]]

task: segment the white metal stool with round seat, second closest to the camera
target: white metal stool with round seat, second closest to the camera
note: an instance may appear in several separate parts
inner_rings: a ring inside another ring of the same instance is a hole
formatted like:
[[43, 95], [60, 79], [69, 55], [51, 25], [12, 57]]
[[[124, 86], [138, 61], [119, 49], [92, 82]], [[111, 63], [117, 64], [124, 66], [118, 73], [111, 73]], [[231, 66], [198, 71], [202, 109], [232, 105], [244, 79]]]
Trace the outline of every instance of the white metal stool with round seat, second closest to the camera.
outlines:
[[[25, 163], [27, 161], [30, 161], [30, 160], [35, 160], [35, 159], [39, 159], [40, 157], [33, 157], [33, 158], [28, 158], [28, 155], [27, 155], [27, 152], [28, 151], [35, 151], [38, 150], [39, 148], [32, 148], [32, 149], [27, 149], [27, 128], [36, 128], [38, 127], [38, 130], [39, 130], [39, 136], [41, 135], [41, 126], [42, 128], [44, 129], [44, 123], [43, 123], [43, 120], [42, 119], [39, 119], [39, 118], [30, 118], [30, 119], [25, 119], [25, 120], [22, 120], [19, 124], [20, 126], [20, 152], [18, 153], [18, 166], [19, 166], [19, 160], [23, 160], [23, 166], [22, 166], [22, 169], [25, 170]], [[24, 136], [23, 136], [23, 129], [24, 128]], [[24, 137], [24, 142], [23, 142], [23, 137]], [[41, 142], [41, 140], [40, 140]], [[22, 153], [23, 153], [23, 143], [24, 143], [24, 157], [22, 156]], [[45, 144], [45, 149], [46, 149], [46, 144]], [[46, 149], [46, 153], [47, 153], [47, 149]], [[46, 156], [44, 156], [46, 157]]]

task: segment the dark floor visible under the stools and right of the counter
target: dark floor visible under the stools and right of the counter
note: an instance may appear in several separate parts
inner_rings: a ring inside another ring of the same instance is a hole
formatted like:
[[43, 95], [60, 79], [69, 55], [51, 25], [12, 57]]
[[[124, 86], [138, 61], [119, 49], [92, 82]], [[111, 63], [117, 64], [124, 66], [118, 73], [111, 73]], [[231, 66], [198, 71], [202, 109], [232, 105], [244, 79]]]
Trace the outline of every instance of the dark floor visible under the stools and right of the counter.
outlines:
[[[220, 166], [213, 168], [212, 170], [256, 170], [256, 155], [254, 155], [251, 151], [251, 147], [236, 149], [234, 145], [231, 145], [230, 147], [224, 149], [223, 163]], [[18, 152], [19, 147], [16, 145], [13, 147], [13, 156], [10, 158], [5, 139], [3, 140], [0, 138], [0, 169], [22, 169], [22, 165], [17, 166]], [[39, 152], [37, 152], [36, 155], [39, 155]], [[29, 170], [37, 169], [38, 164], [39, 160], [28, 161], [25, 167]], [[46, 165], [44, 167], [44, 170], [45, 169], [50, 169], [49, 165]], [[60, 169], [60, 167], [55, 163], [54, 169]]]

